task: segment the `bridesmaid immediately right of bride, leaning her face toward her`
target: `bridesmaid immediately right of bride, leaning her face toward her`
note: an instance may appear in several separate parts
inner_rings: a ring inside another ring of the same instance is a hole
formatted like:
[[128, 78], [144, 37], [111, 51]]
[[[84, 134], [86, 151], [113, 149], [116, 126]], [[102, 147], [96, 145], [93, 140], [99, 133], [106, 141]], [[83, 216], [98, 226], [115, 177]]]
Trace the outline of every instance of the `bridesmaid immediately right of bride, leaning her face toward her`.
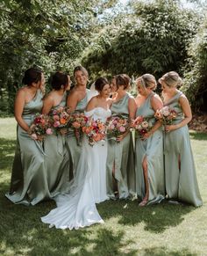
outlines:
[[[111, 81], [113, 101], [112, 115], [122, 114], [126, 118], [134, 119], [136, 103], [132, 95], [127, 92], [130, 77], [125, 74], [114, 77]], [[132, 134], [127, 131], [119, 136], [118, 141], [108, 141], [107, 156], [107, 193], [111, 199], [126, 199], [134, 193], [134, 165]], [[118, 194], [115, 195], [118, 189]]]

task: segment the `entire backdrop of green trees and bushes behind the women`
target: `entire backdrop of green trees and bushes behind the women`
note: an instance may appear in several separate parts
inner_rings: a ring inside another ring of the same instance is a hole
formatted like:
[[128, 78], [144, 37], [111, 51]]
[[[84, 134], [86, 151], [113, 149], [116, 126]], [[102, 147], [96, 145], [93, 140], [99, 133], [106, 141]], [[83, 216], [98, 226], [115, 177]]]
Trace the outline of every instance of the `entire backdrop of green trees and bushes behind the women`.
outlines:
[[117, 3], [2, 0], [0, 115], [12, 113], [25, 69], [38, 65], [48, 77], [80, 63], [92, 80], [123, 72], [160, 77], [174, 69], [186, 77], [183, 90], [199, 108], [206, 95], [206, 21], [179, 0], [131, 0], [125, 10]]

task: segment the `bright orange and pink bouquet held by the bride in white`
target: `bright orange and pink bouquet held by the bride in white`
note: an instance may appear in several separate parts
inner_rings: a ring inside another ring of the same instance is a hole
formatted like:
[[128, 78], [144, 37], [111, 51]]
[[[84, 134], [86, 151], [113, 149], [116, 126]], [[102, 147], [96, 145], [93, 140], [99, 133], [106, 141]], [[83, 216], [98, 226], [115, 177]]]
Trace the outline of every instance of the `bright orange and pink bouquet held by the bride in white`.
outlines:
[[82, 132], [87, 135], [89, 145], [93, 146], [95, 143], [105, 139], [106, 126], [100, 120], [89, 119], [86, 125], [82, 128]]

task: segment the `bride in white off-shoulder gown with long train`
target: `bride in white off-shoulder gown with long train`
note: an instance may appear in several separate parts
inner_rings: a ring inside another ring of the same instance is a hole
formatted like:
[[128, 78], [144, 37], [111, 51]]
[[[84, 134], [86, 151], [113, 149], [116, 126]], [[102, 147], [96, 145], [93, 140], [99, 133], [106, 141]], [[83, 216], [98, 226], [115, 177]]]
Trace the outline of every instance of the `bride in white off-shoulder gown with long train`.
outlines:
[[[109, 82], [106, 78], [99, 77], [95, 82], [95, 89], [98, 95], [89, 100], [85, 115], [105, 122], [111, 116]], [[41, 217], [43, 223], [62, 230], [77, 230], [93, 223], [103, 223], [96, 203], [109, 199], [106, 193], [106, 157], [106, 142], [97, 142], [92, 147], [84, 136], [78, 172], [75, 172], [75, 178], [68, 184], [69, 192], [54, 198], [57, 208]]]

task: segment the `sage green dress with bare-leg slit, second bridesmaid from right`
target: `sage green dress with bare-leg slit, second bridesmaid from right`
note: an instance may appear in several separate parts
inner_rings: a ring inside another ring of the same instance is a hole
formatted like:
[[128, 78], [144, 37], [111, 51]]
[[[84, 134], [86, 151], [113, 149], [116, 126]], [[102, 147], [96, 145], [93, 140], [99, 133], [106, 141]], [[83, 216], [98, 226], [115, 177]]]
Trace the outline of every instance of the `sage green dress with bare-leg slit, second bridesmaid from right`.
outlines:
[[[137, 109], [136, 116], [143, 116], [152, 126], [156, 122], [154, 110], [151, 106], [151, 99], [154, 95], [152, 92], [146, 101]], [[135, 170], [136, 170], [136, 191], [138, 197], [143, 200], [146, 194], [146, 185], [142, 163], [146, 157], [147, 174], [149, 183], [148, 203], [159, 203], [164, 199], [165, 182], [164, 182], [164, 163], [163, 163], [163, 135], [161, 128], [158, 128], [153, 135], [145, 141], [136, 135], [135, 141]]]

